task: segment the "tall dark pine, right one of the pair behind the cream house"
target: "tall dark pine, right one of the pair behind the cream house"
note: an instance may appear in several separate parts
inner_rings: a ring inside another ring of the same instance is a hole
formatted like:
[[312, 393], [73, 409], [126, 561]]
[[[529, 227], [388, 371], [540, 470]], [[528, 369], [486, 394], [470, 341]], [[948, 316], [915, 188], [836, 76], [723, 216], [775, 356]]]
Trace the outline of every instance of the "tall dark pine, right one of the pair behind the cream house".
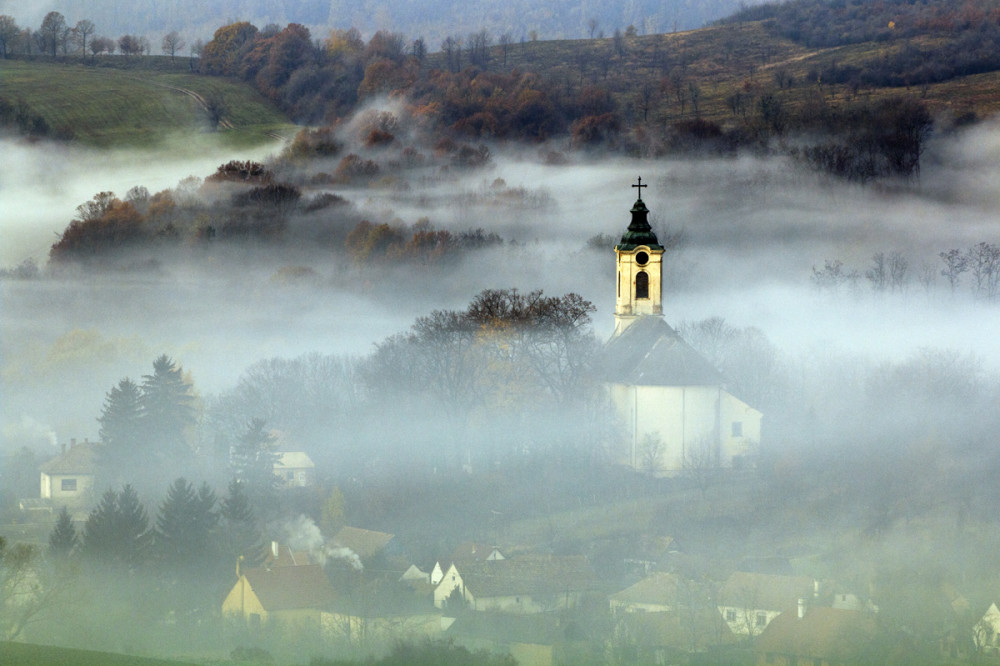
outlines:
[[163, 354], [153, 361], [153, 374], [142, 378], [143, 427], [156, 457], [171, 461], [187, 458], [184, 431], [194, 424], [194, 396], [181, 368]]

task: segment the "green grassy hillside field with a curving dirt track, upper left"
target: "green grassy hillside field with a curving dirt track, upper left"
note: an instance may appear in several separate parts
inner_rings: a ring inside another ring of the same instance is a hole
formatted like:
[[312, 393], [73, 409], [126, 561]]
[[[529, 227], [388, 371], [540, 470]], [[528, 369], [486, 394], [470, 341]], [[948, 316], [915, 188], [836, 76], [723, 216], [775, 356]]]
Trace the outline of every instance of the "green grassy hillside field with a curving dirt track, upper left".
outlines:
[[295, 132], [249, 86], [183, 70], [7, 60], [0, 98], [42, 117], [50, 136], [97, 147], [153, 147], [192, 133], [239, 147]]

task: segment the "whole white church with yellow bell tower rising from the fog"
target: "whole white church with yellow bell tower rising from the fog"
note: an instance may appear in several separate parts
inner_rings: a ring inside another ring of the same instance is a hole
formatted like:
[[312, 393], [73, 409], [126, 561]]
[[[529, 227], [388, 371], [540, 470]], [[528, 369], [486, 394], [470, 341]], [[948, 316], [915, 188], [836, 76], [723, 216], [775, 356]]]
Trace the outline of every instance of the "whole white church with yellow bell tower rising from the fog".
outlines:
[[740, 467], [760, 441], [762, 414], [726, 390], [721, 373], [663, 319], [663, 253], [639, 197], [615, 246], [615, 329], [604, 381], [623, 433], [618, 462], [669, 475]]

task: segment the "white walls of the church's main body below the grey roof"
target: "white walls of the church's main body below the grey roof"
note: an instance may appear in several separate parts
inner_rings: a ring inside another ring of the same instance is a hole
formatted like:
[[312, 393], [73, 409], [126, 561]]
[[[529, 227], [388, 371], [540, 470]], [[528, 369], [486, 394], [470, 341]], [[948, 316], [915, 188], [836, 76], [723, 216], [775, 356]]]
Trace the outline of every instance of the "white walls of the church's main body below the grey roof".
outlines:
[[[760, 441], [762, 415], [719, 386], [610, 385], [623, 426], [623, 462], [658, 473], [730, 467]], [[648, 450], [647, 437], [659, 441]], [[655, 469], [650, 469], [650, 466]]]

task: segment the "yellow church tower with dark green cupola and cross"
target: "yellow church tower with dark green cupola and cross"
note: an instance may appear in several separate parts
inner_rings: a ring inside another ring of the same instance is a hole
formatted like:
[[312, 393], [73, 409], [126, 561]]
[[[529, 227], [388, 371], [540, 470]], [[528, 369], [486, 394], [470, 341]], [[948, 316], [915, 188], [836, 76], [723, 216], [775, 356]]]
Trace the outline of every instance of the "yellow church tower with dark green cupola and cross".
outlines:
[[639, 198], [632, 206], [632, 222], [622, 234], [622, 240], [615, 246], [618, 258], [618, 295], [615, 300], [615, 332], [617, 337], [639, 317], [653, 315], [661, 317], [663, 307], [660, 302], [663, 274], [663, 246], [656, 239], [649, 226], [649, 209], [642, 201], [642, 188], [638, 185]]

